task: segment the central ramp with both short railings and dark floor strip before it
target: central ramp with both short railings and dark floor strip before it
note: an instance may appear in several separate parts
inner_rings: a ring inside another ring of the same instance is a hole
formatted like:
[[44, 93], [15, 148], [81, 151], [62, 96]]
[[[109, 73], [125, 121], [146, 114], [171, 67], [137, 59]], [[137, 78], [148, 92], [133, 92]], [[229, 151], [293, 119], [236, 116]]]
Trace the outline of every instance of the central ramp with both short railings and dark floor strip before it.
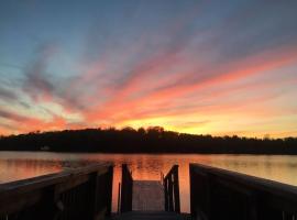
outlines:
[[158, 180], [133, 180], [128, 166], [122, 166], [121, 215], [114, 220], [182, 220], [189, 215], [180, 215], [178, 166], [175, 165]]

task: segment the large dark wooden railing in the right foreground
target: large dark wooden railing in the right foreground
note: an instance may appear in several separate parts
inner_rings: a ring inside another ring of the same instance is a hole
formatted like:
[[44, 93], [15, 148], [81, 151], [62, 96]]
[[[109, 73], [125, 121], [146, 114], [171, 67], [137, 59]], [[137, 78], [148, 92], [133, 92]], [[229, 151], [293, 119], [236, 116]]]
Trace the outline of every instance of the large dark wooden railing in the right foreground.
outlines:
[[189, 168], [193, 219], [297, 219], [297, 187], [200, 164]]

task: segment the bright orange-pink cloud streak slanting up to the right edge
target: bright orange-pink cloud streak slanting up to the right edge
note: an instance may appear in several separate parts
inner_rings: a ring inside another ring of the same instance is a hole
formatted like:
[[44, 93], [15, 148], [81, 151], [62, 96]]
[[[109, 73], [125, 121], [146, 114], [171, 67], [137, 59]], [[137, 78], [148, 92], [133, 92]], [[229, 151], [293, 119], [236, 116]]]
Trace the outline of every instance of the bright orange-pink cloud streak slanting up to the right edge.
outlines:
[[[165, 64], [168, 64], [167, 61], [165, 62]], [[182, 98], [190, 92], [198, 94], [205, 91], [206, 89], [216, 88], [217, 86], [221, 86], [231, 81], [245, 79], [251, 76], [262, 75], [265, 72], [274, 70], [275, 68], [282, 67], [296, 61], [297, 50], [295, 47], [280, 47], [248, 57], [238, 63], [231, 63], [229, 65], [226, 65], [224, 69], [230, 70], [221, 70], [216, 68], [210, 69], [211, 73], [215, 74], [212, 76], [210, 75], [210, 77], [206, 78], [202, 81], [194, 81], [188, 85], [176, 84], [173, 87], [155, 89], [145, 95], [141, 95], [140, 97], [129, 99], [127, 96], [136, 92], [142, 87], [145, 88], [146, 81], [145, 79], [141, 80], [140, 77], [142, 76], [142, 74], [143, 76], [148, 76], [150, 73], [152, 73], [153, 75], [157, 75], [160, 73], [160, 66], [163, 67], [161, 61], [161, 65], [157, 65], [155, 72], [150, 72], [151, 69], [142, 69], [142, 72], [140, 72], [140, 74], [138, 75], [139, 77], [133, 78], [131, 82], [127, 84], [127, 87], [123, 88], [123, 91], [117, 92], [117, 98], [114, 100], [107, 102], [103, 106], [99, 106], [91, 111], [85, 112], [85, 116], [87, 120], [91, 121], [110, 119], [110, 121], [112, 122], [123, 121], [133, 118], [138, 119], [138, 117], [142, 114], [141, 112], [145, 112], [146, 109], [150, 109], [148, 111], [151, 111], [154, 116], [158, 116], [160, 113], [162, 113], [163, 116], [164, 113], [166, 113], [166, 111], [170, 112], [169, 108], [172, 102], [174, 102], [177, 98]], [[187, 75], [187, 73], [180, 75], [190, 76], [189, 74]], [[168, 81], [170, 82], [172, 78], [168, 77]], [[233, 92], [232, 88], [228, 88], [226, 91], [220, 91], [221, 95], [228, 92]], [[211, 98], [211, 96], [213, 95], [210, 95], [210, 97], [208, 98]], [[166, 108], [166, 106], [168, 107]], [[164, 107], [165, 112], [160, 112], [158, 109], [164, 109]], [[183, 113], [183, 111], [185, 110], [182, 109], [179, 112]], [[145, 116], [145, 113], [143, 114]]]

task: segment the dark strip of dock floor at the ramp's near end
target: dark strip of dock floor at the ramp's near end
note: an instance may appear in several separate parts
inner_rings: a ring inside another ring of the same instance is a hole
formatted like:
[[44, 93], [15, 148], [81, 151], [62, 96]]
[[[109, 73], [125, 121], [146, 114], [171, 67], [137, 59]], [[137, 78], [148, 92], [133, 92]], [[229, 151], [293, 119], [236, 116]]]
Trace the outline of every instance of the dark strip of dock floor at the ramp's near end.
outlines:
[[131, 211], [113, 217], [113, 220], [186, 220], [188, 216], [167, 211]]

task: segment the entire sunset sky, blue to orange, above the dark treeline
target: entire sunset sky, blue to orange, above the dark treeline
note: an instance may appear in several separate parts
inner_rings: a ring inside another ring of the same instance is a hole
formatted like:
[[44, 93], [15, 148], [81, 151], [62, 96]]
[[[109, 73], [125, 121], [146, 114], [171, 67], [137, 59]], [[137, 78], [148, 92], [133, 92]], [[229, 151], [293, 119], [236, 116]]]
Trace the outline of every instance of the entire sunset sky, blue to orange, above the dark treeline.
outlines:
[[296, 0], [1, 0], [0, 134], [297, 136]]

